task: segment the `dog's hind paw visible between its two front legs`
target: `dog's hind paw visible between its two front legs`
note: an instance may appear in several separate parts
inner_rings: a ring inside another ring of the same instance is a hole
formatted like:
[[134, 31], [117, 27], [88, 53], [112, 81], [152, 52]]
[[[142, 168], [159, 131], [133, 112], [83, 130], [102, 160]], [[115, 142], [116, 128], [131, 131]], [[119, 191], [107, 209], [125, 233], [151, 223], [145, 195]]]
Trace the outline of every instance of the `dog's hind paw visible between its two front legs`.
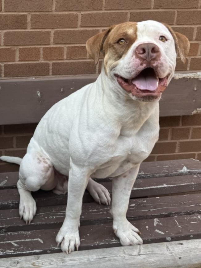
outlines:
[[90, 195], [93, 197], [93, 199], [97, 203], [110, 205], [110, 202], [111, 202], [110, 193], [100, 183], [95, 182], [92, 179], [90, 179], [87, 185], [87, 190], [90, 192]]

